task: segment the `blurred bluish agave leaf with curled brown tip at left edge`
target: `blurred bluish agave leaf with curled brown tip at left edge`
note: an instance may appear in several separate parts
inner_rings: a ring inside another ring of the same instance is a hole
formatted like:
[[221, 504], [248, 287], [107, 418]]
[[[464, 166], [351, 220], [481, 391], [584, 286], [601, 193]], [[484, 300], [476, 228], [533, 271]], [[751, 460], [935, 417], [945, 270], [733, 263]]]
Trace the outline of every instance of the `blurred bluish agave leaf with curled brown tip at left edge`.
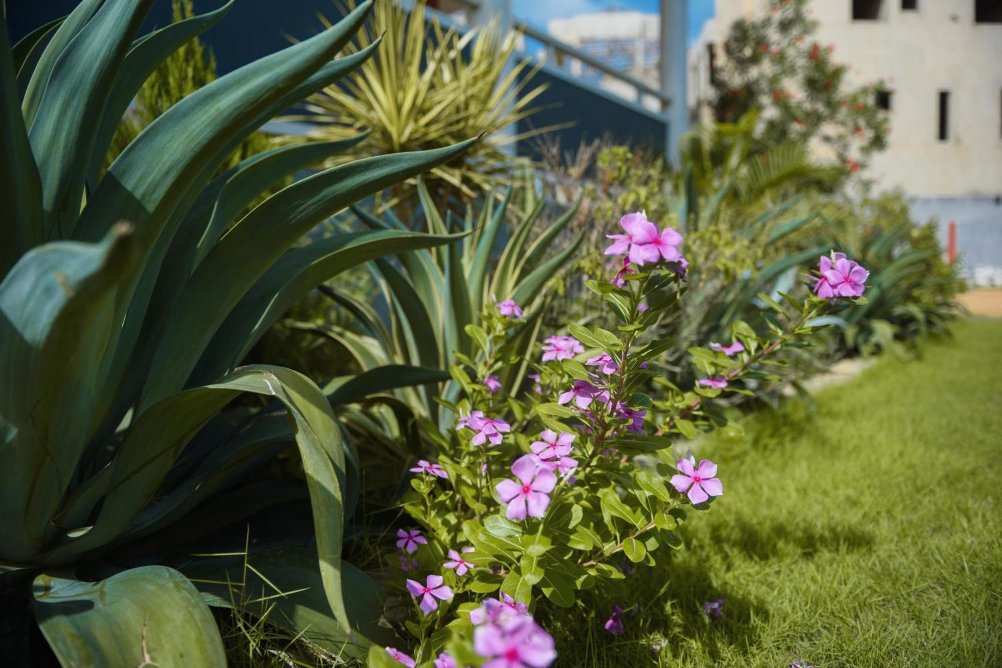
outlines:
[[0, 558], [27, 559], [44, 542], [90, 427], [114, 293], [136, 255], [121, 223], [99, 244], [39, 246], [0, 283]]

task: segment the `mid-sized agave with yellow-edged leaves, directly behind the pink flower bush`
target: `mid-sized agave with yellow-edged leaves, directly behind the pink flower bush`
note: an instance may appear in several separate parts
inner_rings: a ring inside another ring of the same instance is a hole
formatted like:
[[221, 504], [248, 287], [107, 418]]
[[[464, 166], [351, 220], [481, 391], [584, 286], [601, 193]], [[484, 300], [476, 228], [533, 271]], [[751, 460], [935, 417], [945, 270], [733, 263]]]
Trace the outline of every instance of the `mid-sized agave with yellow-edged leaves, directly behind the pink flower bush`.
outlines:
[[[336, 378], [327, 384], [325, 391], [331, 393], [336, 403], [347, 403], [342, 397], [349, 391], [358, 396], [355, 387], [364, 380], [379, 384], [378, 379], [382, 377], [385, 382], [380, 369], [387, 365], [411, 368], [408, 377], [412, 382], [408, 387], [400, 389], [395, 397], [383, 397], [384, 403], [393, 409], [389, 411], [393, 416], [380, 421], [378, 416], [373, 418], [372, 413], [342, 406], [339, 414], [348, 424], [377, 440], [385, 438], [381, 434], [386, 431], [405, 432], [403, 426], [413, 417], [451, 424], [454, 416], [443, 410], [434, 397], [441, 394], [452, 401], [460, 388], [455, 381], [449, 380], [448, 373], [427, 370], [448, 368], [455, 363], [456, 353], [475, 358], [479, 348], [473, 338], [476, 330], [472, 328], [479, 325], [481, 311], [495, 308], [498, 302], [513, 299], [525, 313], [525, 322], [514, 337], [513, 352], [524, 355], [532, 348], [548, 301], [543, 288], [567, 267], [584, 233], [577, 234], [557, 251], [551, 251], [553, 241], [574, 217], [580, 200], [537, 234], [546, 198], [534, 198], [532, 209], [524, 216], [516, 216], [517, 224], [507, 241], [498, 248], [506, 216], [511, 215], [514, 192], [509, 185], [499, 197], [488, 196], [477, 216], [468, 211], [463, 220], [451, 214], [443, 218], [435, 209], [423, 179], [419, 180], [424, 231], [440, 236], [465, 232], [467, 236], [462, 243], [399, 254], [396, 263], [387, 258], [375, 260], [371, 264], [372, 271], [390, 305], [389, 312], [383, 315], [372, 305], [344, 291], [324, 288], [326, 294], [355, 316], [361, 333], [329, 324], [289, 323], [335, 341], [355, 359], [359, 368], [365, 370], [345, 387], [343, 384], [349, 379]], [[392, 212], [380, 219], [358, 207], [353, 207], [352, 211], [373, 230], [403, 232], [407, 229]], [[524, 366], [512, 369], [500, 381], [507, 387], [517, 387], [525, 372]], [[449, 381], [444, 389], [438, 385], [442, 381]], [[377, 422], [372, 422], [373, 419]], [[380, 427], [373, 428], [374, 424]]]

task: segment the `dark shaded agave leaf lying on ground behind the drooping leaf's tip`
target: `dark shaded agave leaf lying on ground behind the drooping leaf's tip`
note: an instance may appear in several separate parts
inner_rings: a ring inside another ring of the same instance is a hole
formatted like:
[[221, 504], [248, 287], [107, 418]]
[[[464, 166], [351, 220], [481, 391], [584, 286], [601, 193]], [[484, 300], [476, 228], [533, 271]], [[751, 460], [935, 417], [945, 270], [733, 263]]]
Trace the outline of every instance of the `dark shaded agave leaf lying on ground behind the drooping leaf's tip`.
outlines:
[[[247, 561], [261, 571], [280, 591], [255, 575], [248, 575], [245, 600], [276, 596], [277, 610], [269, 621], [293, 634], [302, 633], [310, 642], [339, 656], [359, 656], [372, 643], [392, 644], [393, 632], [379, 625], [385, 598], [379, 584], [352, 564], [342, 564], [342, 582], [348, 605], [352, 632], [346, 633], [331, 615], [323, 595], [323, 583], [317, 571], [317, 556], [303, 548], [253, 548]], [[210, 594], [210, 605], [230, 607], [232, 596], [226, 583], [239, 583], [243, 560], [239, 557], [201, 559], [181, 570], [195, 580], [195, 585]], [[207, 582], [214, 581], [214, 582]], [[253, 613], [257, 606], [245, 606]]]

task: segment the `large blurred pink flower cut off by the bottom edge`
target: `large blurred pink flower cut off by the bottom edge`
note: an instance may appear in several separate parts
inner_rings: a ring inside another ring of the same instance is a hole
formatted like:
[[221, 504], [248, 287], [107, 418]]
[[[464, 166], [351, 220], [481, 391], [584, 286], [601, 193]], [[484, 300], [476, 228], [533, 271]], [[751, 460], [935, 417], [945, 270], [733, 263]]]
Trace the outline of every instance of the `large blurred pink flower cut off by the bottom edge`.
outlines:
[[484, 668], [546, 668], [557, 658], [553, 638], [528, 617], [478, 626], [473, 649], [488, 659]]

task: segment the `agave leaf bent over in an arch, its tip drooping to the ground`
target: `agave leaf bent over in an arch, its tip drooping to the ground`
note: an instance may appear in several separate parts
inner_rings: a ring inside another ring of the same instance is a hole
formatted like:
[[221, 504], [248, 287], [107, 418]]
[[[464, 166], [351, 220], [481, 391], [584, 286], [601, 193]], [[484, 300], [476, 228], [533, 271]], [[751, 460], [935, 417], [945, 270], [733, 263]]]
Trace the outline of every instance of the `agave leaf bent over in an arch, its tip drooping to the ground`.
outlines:
[[348, 626], [341, 593], [345, 452], [341, 428], [326, 397], [307, 377], [281, 367], [248, 366], [213, 385], [167, 397], [141, 413], [112, 464], [109, 491], [93, 528], [43, 556], [50, 564], [75, 561], [125, 532], [154, 498], [191, 435], [241, 392], [281, 401], [295, 423], [313, 506], [324, 589], [335, 616]]

